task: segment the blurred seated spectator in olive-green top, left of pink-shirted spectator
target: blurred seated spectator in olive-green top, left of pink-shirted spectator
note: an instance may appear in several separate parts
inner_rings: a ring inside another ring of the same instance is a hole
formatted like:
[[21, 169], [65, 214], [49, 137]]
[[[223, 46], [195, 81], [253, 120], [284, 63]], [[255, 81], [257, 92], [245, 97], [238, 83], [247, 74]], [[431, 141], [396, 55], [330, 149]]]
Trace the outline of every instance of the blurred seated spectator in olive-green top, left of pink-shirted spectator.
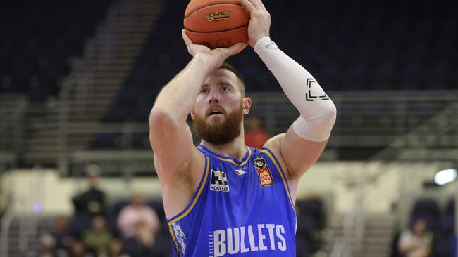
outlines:
[[107, 229], [106, 220], [103, 216], [94, 216], [92, 218], [92, 228], [83, 232], [82, 242], [84, 242], [87, 249], [95, 256], [100, 256], [106, 253], [113, 235]]

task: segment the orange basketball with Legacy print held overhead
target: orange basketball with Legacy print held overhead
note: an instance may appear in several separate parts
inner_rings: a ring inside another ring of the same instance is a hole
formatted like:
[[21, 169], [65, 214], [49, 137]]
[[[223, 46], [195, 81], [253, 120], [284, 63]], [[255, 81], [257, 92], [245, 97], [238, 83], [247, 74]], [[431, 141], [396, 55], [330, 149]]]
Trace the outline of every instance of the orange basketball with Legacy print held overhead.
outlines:
[[195, 44], [214, 49], [248, 43], [249, 11], [241, 0], [191, 0], [184, 23]]

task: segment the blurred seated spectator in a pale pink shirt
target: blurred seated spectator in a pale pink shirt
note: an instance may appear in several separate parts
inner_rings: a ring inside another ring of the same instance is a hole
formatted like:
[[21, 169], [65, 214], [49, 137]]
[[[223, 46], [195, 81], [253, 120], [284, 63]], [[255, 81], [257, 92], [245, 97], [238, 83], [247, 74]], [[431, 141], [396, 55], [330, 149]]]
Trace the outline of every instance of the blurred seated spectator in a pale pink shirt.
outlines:
[[156, 211], [144, 204], [141, 195], [135, 195], [132, 204], [121, 209], [118, 228], [125, 239], [136, 237], [145, 246], [153, 246], [160, 223]]

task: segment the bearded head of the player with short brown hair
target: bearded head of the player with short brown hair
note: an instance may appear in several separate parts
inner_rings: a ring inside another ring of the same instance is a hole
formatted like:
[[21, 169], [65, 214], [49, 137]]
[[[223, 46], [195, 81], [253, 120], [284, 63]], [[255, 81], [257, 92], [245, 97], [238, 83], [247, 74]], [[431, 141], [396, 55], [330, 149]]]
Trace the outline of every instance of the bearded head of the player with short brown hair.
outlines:
[[249, 113], [251, 103], [240, 73], [224, 63], [202, 85], [191, 112], [194, 129], [213, 145], [230, 143], [240, 135], [243, 115]]

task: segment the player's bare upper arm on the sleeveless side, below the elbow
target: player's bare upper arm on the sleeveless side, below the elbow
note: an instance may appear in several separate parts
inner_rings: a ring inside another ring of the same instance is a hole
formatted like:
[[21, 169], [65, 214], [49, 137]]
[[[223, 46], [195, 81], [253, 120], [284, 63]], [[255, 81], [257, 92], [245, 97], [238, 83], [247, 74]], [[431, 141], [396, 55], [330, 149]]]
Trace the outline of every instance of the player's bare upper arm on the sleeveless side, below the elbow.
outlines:
[[172, 178], [178, 169], [188, 166], [194, 156], [190, 127], [160, 115], [151, 119], [149, 142], [154, 151], [154, 166], [161, 178]]

